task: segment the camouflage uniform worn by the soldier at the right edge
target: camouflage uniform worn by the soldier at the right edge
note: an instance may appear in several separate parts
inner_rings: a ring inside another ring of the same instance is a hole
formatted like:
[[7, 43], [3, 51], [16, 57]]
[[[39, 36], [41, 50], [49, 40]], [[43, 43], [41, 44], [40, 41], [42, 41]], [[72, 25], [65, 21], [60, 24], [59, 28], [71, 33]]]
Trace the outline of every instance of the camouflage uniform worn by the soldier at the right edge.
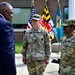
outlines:
[[61, 42], [60, 75], [75, 75], [75, 36]]

